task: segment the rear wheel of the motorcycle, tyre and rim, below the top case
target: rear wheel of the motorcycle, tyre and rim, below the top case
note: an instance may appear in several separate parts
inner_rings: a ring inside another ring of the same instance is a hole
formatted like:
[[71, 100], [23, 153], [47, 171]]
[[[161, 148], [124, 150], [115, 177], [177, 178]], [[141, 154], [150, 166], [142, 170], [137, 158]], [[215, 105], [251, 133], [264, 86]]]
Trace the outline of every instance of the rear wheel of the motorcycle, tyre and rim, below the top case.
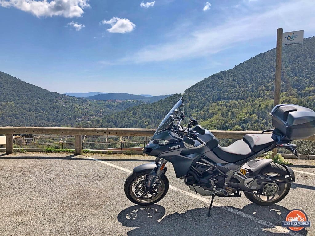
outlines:
[[[287, 175], [287, 171], [283, 166], [273, 162], [263, 168], [259, 173], [266, 175], [267, 177]], [[251, 202], [266, 206], [275, 204], [284, 199], [289, 193], [290, 188], [291, 183], [283, 183], [280, 186], [276, 183], [265, 183], [261, 189], [253, 191], [253, 194], [244, 192], [244, 195]], [[259, 194], [265, 194], [268, 196], [262, 196]]]

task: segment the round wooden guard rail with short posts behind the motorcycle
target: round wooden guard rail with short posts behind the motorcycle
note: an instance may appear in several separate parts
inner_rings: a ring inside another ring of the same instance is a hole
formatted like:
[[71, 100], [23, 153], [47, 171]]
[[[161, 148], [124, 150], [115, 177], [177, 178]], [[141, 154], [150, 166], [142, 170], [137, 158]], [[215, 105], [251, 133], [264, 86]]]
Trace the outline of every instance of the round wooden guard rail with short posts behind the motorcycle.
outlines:
[[[75, 135], [75, 153], [82, 152], [82, 135], [108, 136], [152, 136], [154, 129], [125, 129], [125, 128], [81, 128], [81, 127], [0, 127], [0, 134], [6, 136], [6, 154], [13, 153], [13, 135], [15, 134], [67, 134]], [[245, 134], [261, 133], [261, 131], [228, 131], [210, 130], [217, 138], [238, 138]], [[315, 135], [305, 140], [315, 141]]]

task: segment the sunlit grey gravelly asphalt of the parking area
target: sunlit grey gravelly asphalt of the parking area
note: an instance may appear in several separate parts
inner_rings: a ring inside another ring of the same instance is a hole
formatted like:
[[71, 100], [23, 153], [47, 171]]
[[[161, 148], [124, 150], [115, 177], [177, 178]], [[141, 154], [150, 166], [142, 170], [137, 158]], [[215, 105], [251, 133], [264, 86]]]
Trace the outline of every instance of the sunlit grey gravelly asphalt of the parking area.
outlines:
[[[311, 221], [315, 217], [314, 175], [296, 172], [288, 196], [272, 206], [255, 205], [244, 196], [215, 198], [209, 218], [209, 203], [185, 194], [182, 190], [193, 192], [175, 178], [170, 164], [167, 176], [174, 188], [157, 204], [142, 207], [123, 192], [129, 173], [90, 157], [128, 170], [154, 160], [143, 155], [0, 153], [0, 235], [286, 235], [259, 220], [280, 226], [296, 208]], [[289, 161], [294, 170], [314, 173], [314, 160]], [[297, 235], [315, 235], [314, 227]]]

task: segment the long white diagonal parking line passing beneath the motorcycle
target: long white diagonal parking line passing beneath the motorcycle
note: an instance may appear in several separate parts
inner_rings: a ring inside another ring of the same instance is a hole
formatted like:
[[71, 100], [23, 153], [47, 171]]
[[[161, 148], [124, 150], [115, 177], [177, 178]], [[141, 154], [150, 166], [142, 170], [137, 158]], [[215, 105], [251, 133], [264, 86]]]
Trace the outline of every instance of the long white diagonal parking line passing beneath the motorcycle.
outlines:
[[[116, 165], [111, 164], [111, 163], [108, 163], [108, 162], [106, 162], [106, 161], [98, 160], [98, 159], [95, 159], [95, 158], [93, 158], [93, 157], [87, 157], [87, 158], [89, 158], [89, 159], [91, 159], [91, 160], [98, 161], [98, 162], [103, 163], [103, 164], [105, 164], [105, 165], [108, 165], [108, 166], [117, 168], [117, 169], [119, 169], [119, 170], [126, 171], [126, 172], [128, 172], [128, 173], [131, 173], [131, 172], [132, 172], [132, 171], [130, 171], [130, 170], [128, 170], [128, 169], [125, 169], [125, 168], [120, 167], [120, 166], [116, 166]], [[182, 190], [182, 189], [180, 189], [180, 188], [176, 188], [176, 187], [174, 187], [174, 186], [172, 186], [172, 185], [169, 185], [169, 188], [170, 188], [170, 189], [173, 189], [173, 190], [175, 190], [175, 191], [178, 191], [178, 192], [180, 192], [180, 193], [182, 193], [182, 194], [185, 194], [185, 195], [187, 195], [187, 196], [190, 196], [190, 197], [192, 197], [192, 198], [198, 199], [198, 200], [200, 200], [200, 201], [203, 201], [203, 202], [206, 202], [206, 203], [209, 203], [209, 204], [210, 204], [210, 202], [211, 202], [209, 199], [206, 199], [206, 198], [204, 198], [204, 197], [201, 197], [200, 195], [187, 192], [187, 191]], [[274, 224], [272, 224], [272, 223], [270, 223], [270, 222], [264, 221], [264, 220], [262, 220], [262, 219], [258, 219], [258, 218], [256, 218], [255, 216], [251, 216], [251, 215], [246, 214], [246, 213], [244, 213], [244, 212], [242, 212], [242, 211], [238, 211], [238, 210], [236, 210], [236, 209], [234, 209], [234, 208], [232, 208], [232, 207], [228, 207], [228, 206], [225, 206], [225, 205], [221, 205], [221, 204], [216, 203], [216, 202], [213, 202], [213, 205], [216, 206], [216, 207], [220, 207], [220, 208], [223, 209], [223, 210], [226, 210], [226, 211], [229, 211], [229, 212], [231, 212], [231, 213], [234, 213], [234, 214], [236, 214], [236, 215], [238, 215], [238, 216], [242, 216], [242, 217], [244, 217], [244, 218], [246, 218], [246, 219], [248, 219], [248, 220], [251, 220], [251, 221], [254, 221], [254, 222], [256, 222], [256, 223], [259, 223], [259, 224], [265, 226], [266, 228], [268, 228], [269, 232], [273, 232], [273, 233], [287, 233], [288, 235], [291, 235], [291, 236], [303, 236], [302, 234], [289, 231], [288, 229], [282, 228], [281, 226], [276, 226], [276, 225], [274, 225]]]

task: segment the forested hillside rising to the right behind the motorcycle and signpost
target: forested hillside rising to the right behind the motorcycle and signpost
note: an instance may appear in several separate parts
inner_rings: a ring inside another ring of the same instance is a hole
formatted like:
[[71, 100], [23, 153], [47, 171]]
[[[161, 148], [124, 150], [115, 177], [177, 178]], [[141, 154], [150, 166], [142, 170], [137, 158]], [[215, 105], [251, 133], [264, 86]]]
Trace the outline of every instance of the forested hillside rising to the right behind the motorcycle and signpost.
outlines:
[[[271, 128], [275, 49], [261, 53], [188, 88], [187, 115], [208, 129], [262, 130]], [[315, 37], [304, 44], [283, 47], [281, 103], [315, 108]], [[156, 128], [180, 97], [175, 94], [153, 104], [141, 104], [105, 116], [101, 126]], [[187, 121], [186, 121], [187, 122]]]

